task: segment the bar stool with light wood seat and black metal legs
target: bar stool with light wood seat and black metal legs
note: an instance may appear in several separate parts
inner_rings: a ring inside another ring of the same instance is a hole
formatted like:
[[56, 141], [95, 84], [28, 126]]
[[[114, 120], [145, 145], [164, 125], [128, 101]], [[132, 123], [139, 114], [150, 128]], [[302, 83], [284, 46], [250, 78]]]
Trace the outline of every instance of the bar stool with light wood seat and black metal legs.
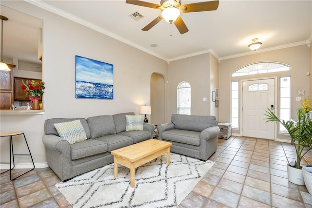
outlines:
[[[24, 139], [25, 139], [25, 142], [26, 142], [26, 145], [27, 145], [29, 154], [14, 154], [14, 151], [13, 151], [13, 139], [12, 139], [12, 137], [13, 137], [13, 136], [20, 135], [20, 134], [23, 134], [23, 136], [24, 136]], [[10, 162], [9, 162], [9, 163], [7, 163], [7, 162], [1, 162], [1, 163], [10, 164], [10, 169], [9, 169], [9, 170], [5, 170], [4, 172], [1, 172], [0, 174], [5, 173], [5, 172], [7, 172], [7, 171], [10, 171], [10, 180], [13, 181], [13, 180], [17, 179], [18, 177], [20, 177], [20, 176], [26, 174], [27, 172], [29, 172], [29, 171], [31, 171], [31, 170], [34, 170], [34, 169], [35, 169], [35, 164], [34, 164], [33, 157], [32, 157], [32, 155], [31, 155], [31, 153], [30, 153], [30, 150], [29, 150], [28, 143], [27, 143], [27, 140], [26, 140], [26, 137], [25, 137], [24, 132], [4, 132], [4, 133], [0, 133], [0, 137], [4, 137], [4, 136], [9, 136], [9, 137], [10, 137], [10, 145], [9, 145], [9, 146], [10, 146]], [[11, 148], [12, 148], [12, 155], [11, 155]], [[30, 158], [31, 158], [31, 160], [32, 160], [32, 162], [33, 162], [33, 166], [34, 166], [34, 167], [33, 167], [33, 169], [28, 170], [27, 172], [24, 172], [23, 174], [21, 174], [21, 175], [19, 175], [19, 176], [17, 176], [17, 177], [15, 177], [15, 178], [12, 179], [11, 170], [13, 170], [13, 169], [15, 168], [14, 155], [29, 155]], [[11, 164], [12, 164], [12, 163], [11, 163], [11, 156], [12, 156], [12, 158], [13, 158], [13, 168], [11, 168]]]

